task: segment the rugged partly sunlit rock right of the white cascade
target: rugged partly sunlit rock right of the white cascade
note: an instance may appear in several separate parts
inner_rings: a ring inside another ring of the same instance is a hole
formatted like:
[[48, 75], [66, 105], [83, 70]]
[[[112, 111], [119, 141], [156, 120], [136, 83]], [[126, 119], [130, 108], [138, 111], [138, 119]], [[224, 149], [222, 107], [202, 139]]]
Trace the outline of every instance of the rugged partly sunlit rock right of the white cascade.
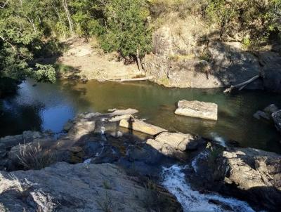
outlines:
[[[225, 151], [216, 161], [216, 180], [271, 211], [281, 207], [281, 156], [251, 148]], [[218, 177], [219, 176], [219, 177]]]

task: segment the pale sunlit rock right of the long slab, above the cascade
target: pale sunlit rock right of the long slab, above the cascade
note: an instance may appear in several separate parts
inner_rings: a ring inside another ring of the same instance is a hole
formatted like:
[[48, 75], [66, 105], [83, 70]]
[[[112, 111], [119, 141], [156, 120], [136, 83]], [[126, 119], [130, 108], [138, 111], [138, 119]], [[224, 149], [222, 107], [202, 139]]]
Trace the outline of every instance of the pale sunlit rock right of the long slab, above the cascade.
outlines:
[[190, 134], [164, 132], [146, 143], [166, 156], [185, 159], [185, 151], [196, 150], [204, 140]]

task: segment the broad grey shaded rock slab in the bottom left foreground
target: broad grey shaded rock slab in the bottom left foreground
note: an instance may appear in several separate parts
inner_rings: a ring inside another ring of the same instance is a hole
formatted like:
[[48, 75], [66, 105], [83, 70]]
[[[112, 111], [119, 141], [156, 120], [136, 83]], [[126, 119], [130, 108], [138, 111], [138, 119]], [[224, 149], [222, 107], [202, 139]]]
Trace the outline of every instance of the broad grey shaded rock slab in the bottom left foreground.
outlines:
[[[0, 202], [8, 211], [147, 211], [150, 197], [138, 178], [112, 164], [58, 163], [39, 171], [2, 171], [0, 180]], [[161, 194], [171, 211], [181, 211], [171, 195]]]

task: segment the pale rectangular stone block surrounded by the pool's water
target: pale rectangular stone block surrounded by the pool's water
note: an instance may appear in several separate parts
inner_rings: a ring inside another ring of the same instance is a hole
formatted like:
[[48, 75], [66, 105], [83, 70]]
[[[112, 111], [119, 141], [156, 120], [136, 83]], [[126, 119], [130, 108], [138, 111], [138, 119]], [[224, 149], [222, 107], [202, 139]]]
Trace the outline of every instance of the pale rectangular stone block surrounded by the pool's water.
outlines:
[[210, 102], [181, 100], [178, 102], [175, 114], [216, 121], [218, 119], [218, 105]]

